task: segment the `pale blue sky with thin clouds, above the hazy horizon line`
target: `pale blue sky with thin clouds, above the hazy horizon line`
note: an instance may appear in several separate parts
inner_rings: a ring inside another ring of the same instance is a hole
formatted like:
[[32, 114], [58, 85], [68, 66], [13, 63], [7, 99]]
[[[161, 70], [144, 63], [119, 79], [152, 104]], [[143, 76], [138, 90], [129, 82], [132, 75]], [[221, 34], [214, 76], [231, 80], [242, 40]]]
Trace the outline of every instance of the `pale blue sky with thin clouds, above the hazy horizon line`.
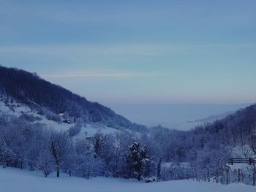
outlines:
[[0, 0], [0, 63], [102, 104], [256, 99], [256, 1]]

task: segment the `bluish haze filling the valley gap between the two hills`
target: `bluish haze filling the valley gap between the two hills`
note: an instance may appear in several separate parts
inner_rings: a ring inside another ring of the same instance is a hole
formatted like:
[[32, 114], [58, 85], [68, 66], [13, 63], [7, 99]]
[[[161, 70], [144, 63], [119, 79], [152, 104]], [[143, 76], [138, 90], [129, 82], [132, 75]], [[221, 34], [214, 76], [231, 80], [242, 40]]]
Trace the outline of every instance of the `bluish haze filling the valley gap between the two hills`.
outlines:
[[110, 104], [112, 110], [132, 122], [146, 126], [164, 126], [189, 130], [205, 122], [192, 122], [212, 115], [222, 118], [227, 112], [236, 112], [250, 104]]

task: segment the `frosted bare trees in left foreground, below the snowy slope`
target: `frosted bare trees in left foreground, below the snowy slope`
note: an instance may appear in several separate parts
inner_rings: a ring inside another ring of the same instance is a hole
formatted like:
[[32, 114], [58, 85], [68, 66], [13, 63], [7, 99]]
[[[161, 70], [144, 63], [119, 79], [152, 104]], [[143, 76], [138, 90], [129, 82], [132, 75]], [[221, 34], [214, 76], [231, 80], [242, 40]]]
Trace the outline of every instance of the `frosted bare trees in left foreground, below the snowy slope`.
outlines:
[[[135, 142], [136, 141], [136, 142]], [[45, 177], [60, 172], [79, 177], [135, 177], [150, 180], [157, 156], [146, 140], [129, 132], [72, 139], [69, 131], [28, 123], [22, 117], [0, 117], [0, 164], [42, 170]]]

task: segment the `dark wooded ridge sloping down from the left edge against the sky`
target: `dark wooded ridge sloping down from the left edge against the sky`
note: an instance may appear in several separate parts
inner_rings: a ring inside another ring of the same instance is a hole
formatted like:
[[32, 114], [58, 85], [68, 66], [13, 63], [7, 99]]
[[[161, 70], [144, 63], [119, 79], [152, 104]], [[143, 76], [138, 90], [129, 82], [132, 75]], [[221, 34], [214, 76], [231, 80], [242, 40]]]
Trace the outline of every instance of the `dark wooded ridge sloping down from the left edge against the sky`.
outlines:
[[87, 123], [102, 123], [113, 128], [146, 131], [147, 127], [132, 123], [113, 110], [91, 102], [59, 85], [42, 80], [37, 74], [20, 69], [0, 66], [1, 96], [10, 96], [30, 107], [45, 107], [58, 115], [66, 112], [69, 117], [83, 118]]

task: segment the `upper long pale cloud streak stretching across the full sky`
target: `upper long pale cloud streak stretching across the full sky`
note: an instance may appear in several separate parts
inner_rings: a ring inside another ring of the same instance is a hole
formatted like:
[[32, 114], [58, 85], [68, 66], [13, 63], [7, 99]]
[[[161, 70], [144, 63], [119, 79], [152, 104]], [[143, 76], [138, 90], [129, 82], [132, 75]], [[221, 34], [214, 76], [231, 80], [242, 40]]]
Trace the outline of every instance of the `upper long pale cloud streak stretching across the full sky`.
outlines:
[[255, 42], [244, 43], [214, 43], [214, 44], [173, 44], [173, 43], [124, 43], [124, 44], [65, 44], [65, 45], [35, 45], [35, 46], [0, 46], [0, 54], [26, 54], [43, 56], [64, 57], [93, 57], [116, 55], [170, 55], [183, 53], [191, 49], [205, 48], [250, 48], [255, 47]]

